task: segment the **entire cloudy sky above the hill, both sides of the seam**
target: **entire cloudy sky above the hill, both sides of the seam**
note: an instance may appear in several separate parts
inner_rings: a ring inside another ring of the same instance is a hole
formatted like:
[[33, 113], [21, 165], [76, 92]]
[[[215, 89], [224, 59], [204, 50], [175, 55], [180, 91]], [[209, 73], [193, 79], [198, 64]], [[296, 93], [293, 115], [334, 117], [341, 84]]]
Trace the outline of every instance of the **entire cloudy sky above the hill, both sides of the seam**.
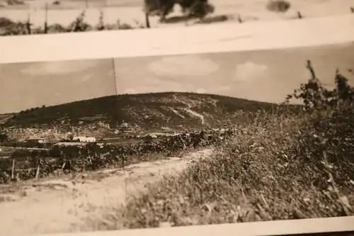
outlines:
[[354, 82], [354, 74], [348, 72], [354, 69], [354, 43], [286, 50], [0, 64], [0, 113], [114, 94], [162, 91], [279, 103], [309, 79], [306, 60], [312, 60], [324, 85], [333, 84], [336, 68], [350, 79], [350, 84]]

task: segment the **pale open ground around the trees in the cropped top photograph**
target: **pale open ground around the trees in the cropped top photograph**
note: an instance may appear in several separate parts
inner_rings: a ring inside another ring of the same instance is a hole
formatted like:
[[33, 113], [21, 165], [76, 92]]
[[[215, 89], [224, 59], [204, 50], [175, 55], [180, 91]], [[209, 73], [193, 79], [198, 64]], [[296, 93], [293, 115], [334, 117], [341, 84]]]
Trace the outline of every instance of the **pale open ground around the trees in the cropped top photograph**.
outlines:
[[[1, 0], [0, 0], [1, 1]], [[324, 17], [343, 15], [350, 13], [350, 7], [354, 7], [354, 0], [289, 0], [292, 4], [286, 13], [274, 13], [268, 11], [266, 5], [268, 0], [210, 0], [215, 5], [215, 16], [227, 15], [238, 21], [240, 15], [244, 22], [248, 21], [271, 21], [290, 20], [297, 18], [297, 11], [302, 13], [304, 18]], [[28, 4], [18, 6], [4, 6], [0, 8], [1, 16], [11, 18], [15, 21], [26, 21], [30, 16], [34, 26], [43, 26], [45, 20], [45, 1], [29, 0]], [[105, 23], [128, 23], [131, 26], [144, 25], [144, 14], [142, 13], [142, 0], [88, 0], [89, 9], [86, 10], [85, 21], [91, 25], [98, 23], [100, 11], [104, 13]], [[51, 5], [51, 4], [50, 4]], [[86, 8], [85, 1], [62, 0], [58, 6], [50, 6], [48, 12], [48, 23], [60, 23], [69, 25]], [[181, 12], [176, 10], [171, 16], [181, 16]], [[159, 23], [158, 17], [151, 17], [152, 27], [183, 26], [183, 23]]]

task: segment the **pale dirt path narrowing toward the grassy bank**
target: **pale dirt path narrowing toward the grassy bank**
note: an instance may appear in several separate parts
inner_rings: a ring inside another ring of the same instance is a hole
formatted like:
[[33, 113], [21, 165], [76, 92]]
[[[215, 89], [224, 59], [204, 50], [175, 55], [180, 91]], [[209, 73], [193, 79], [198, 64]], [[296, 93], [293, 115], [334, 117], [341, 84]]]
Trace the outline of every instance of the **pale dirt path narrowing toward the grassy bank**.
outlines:
[[[73, 232], [87, 219], [100, 218], [105, 209], [124, 206], [147, 183], [176, 174], [212, 150], [191, 152], [182, 158], [132, 164], [122, 169], [93, 172], [70, 179], [27, 183], [11, 195], [0, 195], [0, 235]], [[84, 180], [83, 180], [84, 179]], [[127, 189], [127, 191], [125, 191]]]

